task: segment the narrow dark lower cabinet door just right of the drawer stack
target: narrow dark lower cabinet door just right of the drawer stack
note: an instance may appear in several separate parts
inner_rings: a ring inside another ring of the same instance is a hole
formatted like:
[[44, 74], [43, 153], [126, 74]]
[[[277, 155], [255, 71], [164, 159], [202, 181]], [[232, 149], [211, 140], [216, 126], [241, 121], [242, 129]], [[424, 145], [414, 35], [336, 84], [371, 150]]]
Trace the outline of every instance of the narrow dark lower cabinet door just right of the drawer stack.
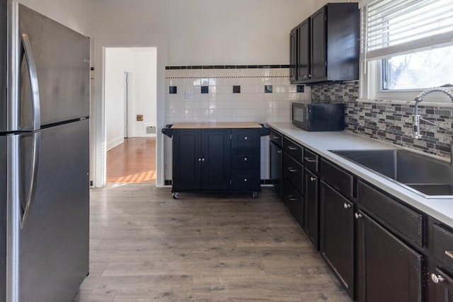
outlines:
[[304, 169], [304, 228], [316, 250], [319, 250], [319, 178]]

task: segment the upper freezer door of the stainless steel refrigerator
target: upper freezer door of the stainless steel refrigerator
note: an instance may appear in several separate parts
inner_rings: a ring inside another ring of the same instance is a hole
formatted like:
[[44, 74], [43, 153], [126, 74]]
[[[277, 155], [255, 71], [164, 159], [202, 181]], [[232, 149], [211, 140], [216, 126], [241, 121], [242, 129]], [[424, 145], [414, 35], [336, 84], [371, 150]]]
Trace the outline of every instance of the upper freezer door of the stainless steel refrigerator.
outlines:
[[[19, 5], [19, 45], [28, 38], [30, 47], [21, 47], [20, 115], [21, 128], [30, 126], [30, 64], [33, 58], [40, 97], [40, 124], [48, 125], [90, 112], [90, 40], [30, 8]], [[26, 37], [25, 37], [26, 36]], [[25, 51], [27, 52], [25, 54]], [[33, 76], [32, 76], [33, 77]]]

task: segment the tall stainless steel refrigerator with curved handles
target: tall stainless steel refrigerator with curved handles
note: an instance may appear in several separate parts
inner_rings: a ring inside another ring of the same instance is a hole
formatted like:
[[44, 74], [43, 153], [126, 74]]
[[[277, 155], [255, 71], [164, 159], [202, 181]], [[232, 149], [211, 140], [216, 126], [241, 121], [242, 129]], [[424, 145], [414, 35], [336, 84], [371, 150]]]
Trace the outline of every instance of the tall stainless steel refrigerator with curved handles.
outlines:
[[71, 301], [88, 274], [89, 56], [0, 0], [0, 301]]

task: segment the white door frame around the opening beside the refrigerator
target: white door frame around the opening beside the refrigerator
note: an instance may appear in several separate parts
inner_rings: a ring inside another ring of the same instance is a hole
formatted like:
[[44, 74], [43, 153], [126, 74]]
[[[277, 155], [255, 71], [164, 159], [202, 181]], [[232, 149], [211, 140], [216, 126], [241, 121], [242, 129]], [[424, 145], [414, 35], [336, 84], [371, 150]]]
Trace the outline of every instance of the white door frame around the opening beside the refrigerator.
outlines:
[[[94, 187], [105, 186], [105, 48], [106, 47], [156, 47], [156, 186], [164, 186], [164, 134], [165, 126], [165, 66], [166, 39], [162, 35], [127, 35], [122, 37], [92, 38], [94, 57], [94, 95], [91, 102], [91, 175]], [[93, 65], [92, 65], [93, 66]]]

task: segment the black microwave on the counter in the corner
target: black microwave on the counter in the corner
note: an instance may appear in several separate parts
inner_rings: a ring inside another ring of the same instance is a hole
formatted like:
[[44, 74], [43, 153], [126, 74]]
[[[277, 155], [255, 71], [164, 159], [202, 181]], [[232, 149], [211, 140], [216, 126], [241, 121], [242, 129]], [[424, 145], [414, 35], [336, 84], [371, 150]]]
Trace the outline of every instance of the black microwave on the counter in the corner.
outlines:
[[344, 130], [345, 104], [292, 103], [292, 124], [306, 131]]

